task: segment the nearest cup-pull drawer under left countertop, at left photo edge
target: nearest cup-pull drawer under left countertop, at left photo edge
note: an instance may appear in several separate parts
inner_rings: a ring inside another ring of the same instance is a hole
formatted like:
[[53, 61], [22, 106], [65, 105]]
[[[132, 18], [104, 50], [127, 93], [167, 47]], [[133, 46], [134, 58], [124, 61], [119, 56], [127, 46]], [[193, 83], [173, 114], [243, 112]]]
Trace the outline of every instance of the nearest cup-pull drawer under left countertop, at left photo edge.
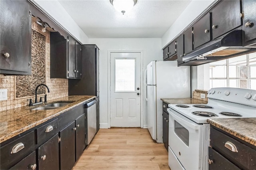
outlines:
[[1, 147], [1, 169], [9, 169], [29, 152], [32, 152], [35, 146], [34, 131], [6, 144]]

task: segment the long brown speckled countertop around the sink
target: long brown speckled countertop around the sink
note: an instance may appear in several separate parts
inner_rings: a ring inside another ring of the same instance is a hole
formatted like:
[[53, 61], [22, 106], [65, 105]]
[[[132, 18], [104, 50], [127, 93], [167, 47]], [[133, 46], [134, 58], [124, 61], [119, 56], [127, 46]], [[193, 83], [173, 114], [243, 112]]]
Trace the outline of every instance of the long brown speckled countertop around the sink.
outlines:
[[[40, 125], [74, 107], [84, 101], [94, 99], [95, 96], [68, 96], [48, 101], [46, 104], [36, 106], [24, 106], [0, 112], [0, 143], [4, 142], [26, 130]], [[52, 110], [30, 110], [36, 107], [59, 101], [73, 101], [72, 103]]]

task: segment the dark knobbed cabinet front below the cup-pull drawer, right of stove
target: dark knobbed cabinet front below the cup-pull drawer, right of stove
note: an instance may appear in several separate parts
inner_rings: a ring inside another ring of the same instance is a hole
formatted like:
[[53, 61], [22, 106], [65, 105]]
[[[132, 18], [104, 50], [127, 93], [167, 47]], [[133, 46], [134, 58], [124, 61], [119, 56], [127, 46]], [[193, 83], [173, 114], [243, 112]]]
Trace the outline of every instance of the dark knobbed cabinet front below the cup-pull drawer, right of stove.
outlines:
[[236, 165], [227, 160], [221, 154], [209, 147], [209, 170], [225, 169], [225, 170], [240, 170]]

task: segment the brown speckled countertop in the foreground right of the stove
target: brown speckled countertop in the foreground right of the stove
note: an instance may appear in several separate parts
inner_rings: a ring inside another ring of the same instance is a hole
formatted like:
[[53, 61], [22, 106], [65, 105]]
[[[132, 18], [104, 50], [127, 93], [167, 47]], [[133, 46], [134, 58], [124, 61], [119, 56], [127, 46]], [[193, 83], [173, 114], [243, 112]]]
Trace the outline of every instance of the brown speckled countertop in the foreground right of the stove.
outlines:
[[212, 118], [207, 119], [207, 122], [214, 127], [220, 128], [221, 130], [256, 146], [256, 118]]

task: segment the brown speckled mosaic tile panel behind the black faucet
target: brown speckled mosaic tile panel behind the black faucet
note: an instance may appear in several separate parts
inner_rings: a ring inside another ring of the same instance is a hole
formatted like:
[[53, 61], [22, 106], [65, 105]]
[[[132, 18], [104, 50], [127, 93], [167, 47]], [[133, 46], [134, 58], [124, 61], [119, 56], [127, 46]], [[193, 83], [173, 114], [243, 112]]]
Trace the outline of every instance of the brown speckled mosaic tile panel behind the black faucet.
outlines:
[[[35, 94], [36, 86], [46, 83], [46, 36], [32, 30], [32, 75], [16, 76], [16, 97]], [[37, 94], [46, 93], [45, 87], [39, 87]]]

